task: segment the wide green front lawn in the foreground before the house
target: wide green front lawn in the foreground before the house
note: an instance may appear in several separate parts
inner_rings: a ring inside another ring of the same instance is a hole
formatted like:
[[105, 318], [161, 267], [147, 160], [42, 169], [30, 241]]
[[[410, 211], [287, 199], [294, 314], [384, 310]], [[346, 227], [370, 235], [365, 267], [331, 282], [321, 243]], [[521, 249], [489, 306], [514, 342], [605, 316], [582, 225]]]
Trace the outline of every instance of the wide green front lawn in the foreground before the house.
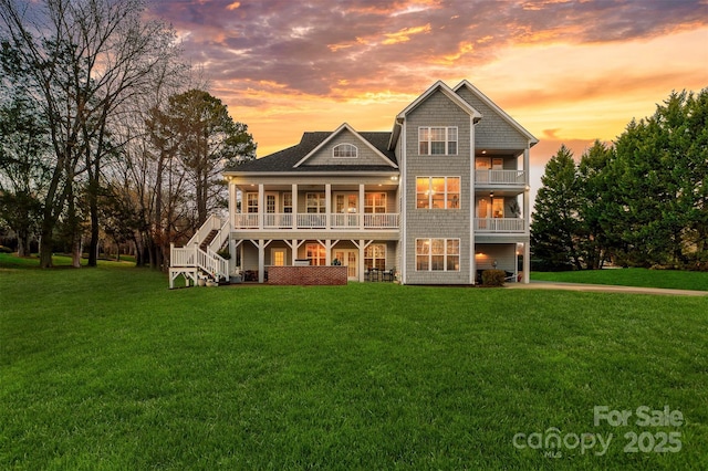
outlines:
[[[12, 260], [0, 258], [0, 469], [708, 469], [708, 299], [169, 291], [125, 264]], [[596, 427], [595, 406], [685, 420]], [[513, 444], [551, 428], [569, 447]], [[648, 451], [625, 452], [628, 432]], [[680, 450], [654, 451], [668, 432]], [[571, 448], [583, 433], [612, 433], [606, 453]]]

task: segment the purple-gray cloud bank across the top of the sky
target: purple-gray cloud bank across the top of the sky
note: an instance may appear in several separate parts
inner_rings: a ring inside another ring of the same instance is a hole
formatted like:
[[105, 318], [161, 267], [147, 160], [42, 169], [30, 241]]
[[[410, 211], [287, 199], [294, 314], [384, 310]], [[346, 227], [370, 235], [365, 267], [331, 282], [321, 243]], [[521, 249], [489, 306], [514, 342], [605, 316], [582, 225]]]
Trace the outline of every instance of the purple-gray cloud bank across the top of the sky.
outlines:
[[688, 0], [195, 0], [153, 13], [217, 82], [335, 97], [337, 84], [419, 92], [436, 78], [421, 66], [479, 66], [512, 43], [648, 39], [708, 23], [708, 4]]

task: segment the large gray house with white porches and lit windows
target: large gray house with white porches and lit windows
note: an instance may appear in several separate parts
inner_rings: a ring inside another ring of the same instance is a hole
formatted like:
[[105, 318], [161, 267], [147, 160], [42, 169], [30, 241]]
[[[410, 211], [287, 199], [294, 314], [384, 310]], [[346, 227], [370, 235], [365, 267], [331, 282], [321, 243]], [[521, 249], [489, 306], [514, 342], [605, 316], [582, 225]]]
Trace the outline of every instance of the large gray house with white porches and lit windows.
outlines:
[[537, 143], [469, 82], [436, 82], [389, 133], [345, 123], [227, 168], [228, 220], [173, 249], [170, 283], [199, 266], [262, 283], [269, 266], [302, 263], [345, 265], [353, 281], [393, 271], [405, 284], [475, 284], [498, 268], [528, 283]]

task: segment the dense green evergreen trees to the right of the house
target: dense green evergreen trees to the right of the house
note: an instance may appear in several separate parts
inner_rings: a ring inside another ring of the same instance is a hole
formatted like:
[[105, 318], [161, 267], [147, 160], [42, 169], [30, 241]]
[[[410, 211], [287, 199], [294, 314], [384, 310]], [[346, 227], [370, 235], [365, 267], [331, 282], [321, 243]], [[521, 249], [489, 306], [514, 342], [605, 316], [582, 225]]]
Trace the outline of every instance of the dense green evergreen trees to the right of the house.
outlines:
[[577, 163], [561, 146], [541, 182], [531, 223], [541, 268], [708, 270], [708, 88], [671, 93]]

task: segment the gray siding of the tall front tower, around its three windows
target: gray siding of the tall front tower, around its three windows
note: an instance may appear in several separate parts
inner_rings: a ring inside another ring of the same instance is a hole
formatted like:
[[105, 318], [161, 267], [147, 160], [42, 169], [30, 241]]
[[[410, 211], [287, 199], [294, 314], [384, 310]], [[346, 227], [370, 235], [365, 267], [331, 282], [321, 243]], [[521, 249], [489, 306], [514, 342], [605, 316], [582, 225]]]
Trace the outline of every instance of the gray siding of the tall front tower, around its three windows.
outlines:
[[[421, 156], [419, 126], [457, 126], [458, 153]], [[470, 271], [470, 116], [444, 93], [434, 93], [406, 118], [406, 283], [467, 284]], [[417, 209], [416, 177], [460, 177], [459, 209]], [[460, 270], [416, 271], [416, 239], [460, 240]]]

